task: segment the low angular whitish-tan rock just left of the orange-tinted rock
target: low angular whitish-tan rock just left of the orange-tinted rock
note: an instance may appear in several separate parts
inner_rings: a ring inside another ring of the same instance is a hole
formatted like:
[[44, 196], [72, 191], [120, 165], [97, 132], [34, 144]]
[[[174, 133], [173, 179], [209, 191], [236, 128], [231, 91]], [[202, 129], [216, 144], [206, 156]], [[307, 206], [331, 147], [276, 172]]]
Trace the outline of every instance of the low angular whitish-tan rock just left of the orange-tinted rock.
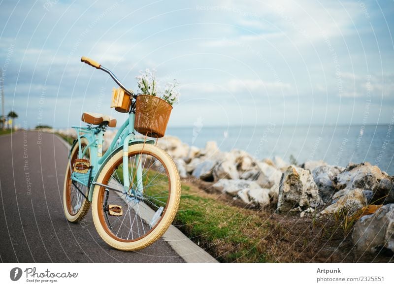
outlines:
[[366, 197], [361, 189], [344, 190], [341, 192], [343, 195], [335, 203], [321, 211], [320, 214], [344, 213], [345, 215], [352, 215], [367, 205]]

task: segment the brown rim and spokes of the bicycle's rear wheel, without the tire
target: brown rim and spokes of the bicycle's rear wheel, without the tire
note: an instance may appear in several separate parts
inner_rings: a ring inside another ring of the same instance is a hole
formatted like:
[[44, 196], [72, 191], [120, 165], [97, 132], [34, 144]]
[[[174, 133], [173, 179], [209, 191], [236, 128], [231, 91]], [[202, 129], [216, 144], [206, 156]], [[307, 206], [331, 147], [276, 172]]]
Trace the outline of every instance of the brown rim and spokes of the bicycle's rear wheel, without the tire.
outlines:
[[[86, 147], [86, 144], [81, 143], [81, 148]], [[69, 160], [69, 167], [67, 170], [67, 190], [66, 190], [66, 206], [67, 211], [71, 216], [75, 216], [81, 210], [84, 201], [86, 198], [75, 188], [72, 184], [71, 180], [71, 172], [72, 172], [72, 162], [78, 157], [79, 147], [76, 146], [75, 152], [72, 154], [72, 158]], [[89, 159], [89, 151], [83, 157], [84, 159]], [[84, 185], [81, 185], [78, 182], [75, 182], [75, 185], [82, 191], [85, 195], [88, 194], [88, 188]]]

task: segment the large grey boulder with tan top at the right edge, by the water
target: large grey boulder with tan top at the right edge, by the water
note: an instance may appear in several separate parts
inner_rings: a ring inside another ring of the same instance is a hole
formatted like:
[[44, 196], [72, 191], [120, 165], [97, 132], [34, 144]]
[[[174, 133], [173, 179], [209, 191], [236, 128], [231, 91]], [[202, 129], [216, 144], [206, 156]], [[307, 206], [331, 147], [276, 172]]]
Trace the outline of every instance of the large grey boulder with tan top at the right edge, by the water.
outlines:
[[373, 200], [381, 203], [394, 202], [392, 178], [369, 162], [349, 164], [344, 171], [333, 178], [332, 184], [337, 190], [360, 188], [373, 191]]

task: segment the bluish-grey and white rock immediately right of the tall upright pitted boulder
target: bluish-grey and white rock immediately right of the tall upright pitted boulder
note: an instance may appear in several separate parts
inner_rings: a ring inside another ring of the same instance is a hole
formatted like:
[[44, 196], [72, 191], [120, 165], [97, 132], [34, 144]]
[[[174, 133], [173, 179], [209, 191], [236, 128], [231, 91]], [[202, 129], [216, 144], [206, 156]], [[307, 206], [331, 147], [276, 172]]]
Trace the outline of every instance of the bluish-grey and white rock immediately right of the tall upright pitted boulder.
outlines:
[[332, 179], [344, 169], [344, 167], [336, 165], [321, 165], [312, 170], [313, 179], [319, 188], [320, 197], [324, 203], [328, 202], [335, 191], [332, 186]]

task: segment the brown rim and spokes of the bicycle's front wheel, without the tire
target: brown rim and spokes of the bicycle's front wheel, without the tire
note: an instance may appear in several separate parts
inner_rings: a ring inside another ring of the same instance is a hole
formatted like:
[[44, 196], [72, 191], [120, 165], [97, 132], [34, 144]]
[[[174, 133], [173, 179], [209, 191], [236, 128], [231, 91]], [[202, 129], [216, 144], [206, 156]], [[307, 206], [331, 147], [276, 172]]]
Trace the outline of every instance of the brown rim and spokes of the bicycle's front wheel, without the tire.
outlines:
[[[142, 165], [143, 190], [138, 192], [137, 156]], [[131, 194], [123, 191], [123, 158], [104, 175], [102, 184], [118, 191], [99, 188], [98, 214], [101, 226], [113, 239], [134, 242], [155, 230], [164, 218], [171, 197], [171, 181], [163, 160], [148, 151], [129, 153]], [[160, 210], [162, 208], [162, 210]]]

